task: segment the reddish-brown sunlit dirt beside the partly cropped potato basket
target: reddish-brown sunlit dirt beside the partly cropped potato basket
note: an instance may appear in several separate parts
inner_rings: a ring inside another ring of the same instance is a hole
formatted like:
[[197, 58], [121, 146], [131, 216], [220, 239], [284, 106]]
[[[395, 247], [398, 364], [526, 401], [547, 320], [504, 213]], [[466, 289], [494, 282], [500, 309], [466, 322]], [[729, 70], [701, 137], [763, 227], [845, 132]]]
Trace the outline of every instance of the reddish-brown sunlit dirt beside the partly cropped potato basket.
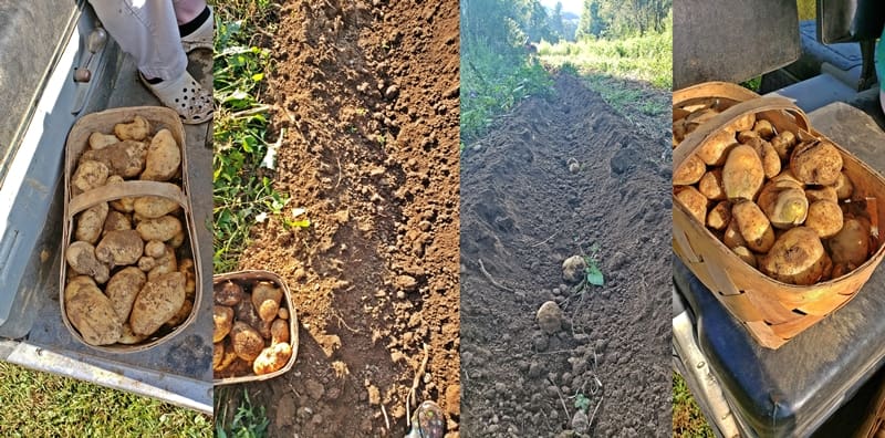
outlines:
[[273, 181], [312, 225], [259, 227], [240, 265], [283, 277], [301, 322], [292, 371], [247, 385], [271, 436], [403, 436], [416, 374], [457, 436], [458, 45], [456, 2], [280, 10]]

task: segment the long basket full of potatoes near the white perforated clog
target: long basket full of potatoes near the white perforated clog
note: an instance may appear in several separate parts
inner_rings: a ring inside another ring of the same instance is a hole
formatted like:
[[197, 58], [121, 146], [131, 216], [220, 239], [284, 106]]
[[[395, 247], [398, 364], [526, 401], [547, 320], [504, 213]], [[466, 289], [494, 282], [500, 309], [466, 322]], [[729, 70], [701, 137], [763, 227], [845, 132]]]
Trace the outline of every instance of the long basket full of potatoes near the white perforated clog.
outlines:
[[163, 107], [88, 114], [65, 147], [62, 320], [105, 352], [139, 352], [194, 322], [200, 267], [185, 132]]

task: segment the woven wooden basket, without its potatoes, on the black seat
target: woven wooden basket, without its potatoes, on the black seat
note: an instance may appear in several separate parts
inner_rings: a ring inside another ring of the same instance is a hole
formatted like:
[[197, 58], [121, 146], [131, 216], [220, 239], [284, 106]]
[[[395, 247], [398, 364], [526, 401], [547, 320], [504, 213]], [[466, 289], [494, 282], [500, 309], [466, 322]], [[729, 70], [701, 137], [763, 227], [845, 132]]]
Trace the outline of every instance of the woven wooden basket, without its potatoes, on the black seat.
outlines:
[[[717, 90], [721, 90], [718, 87]], [[695, 90], [697, 92], [697, 90]], [[736, 103], [714, 116], [687, 135], [673, 153], [674, 169], [678, 168], [704, 142], [725, 126], [746, 114], [756, 114], [774, 125], [799, 134], [800, 140], [812, 135], [823, 137], [811, 129], [805, 114], [790, 101], [780, 97], [751, 98], [735, 96]], [[681, 95], [680, 97], [684, 97]], [[674, 94], [676, 98], [676, 94]], [[690, 98], [701, 97], [699, 93]], [[717, 96], [722, 97], [722, 96]], [[745, 101], [739, 102], [738, 101]], [[683, 100], [681, 102], [686, 102]], [[825, 137], [823, 137], [825, 138]], [[832, 140], [830, 140], [832, 143]], [[885, 199], [885, 179], [866, 164], [839, 145], [843, 170], [854, 182], [853, 199]], [[878, 218], [885, 223], [885, 209], [878, 209]], [[778, 348], [790, 338], [821, 321], [841, 307], [870, 279], [885, 255], [882, 240], [876, 241], [876, 251], [854, 271], [830, 281], [810, 286], [787, 284], [773, 280], [743, 262], [729, 250], [702, 223], [674, 197], [673, 244], [676, 254], [691, 272], [708, 288], [726, 309], [740, 321], [750, 334], [764, 347]]]

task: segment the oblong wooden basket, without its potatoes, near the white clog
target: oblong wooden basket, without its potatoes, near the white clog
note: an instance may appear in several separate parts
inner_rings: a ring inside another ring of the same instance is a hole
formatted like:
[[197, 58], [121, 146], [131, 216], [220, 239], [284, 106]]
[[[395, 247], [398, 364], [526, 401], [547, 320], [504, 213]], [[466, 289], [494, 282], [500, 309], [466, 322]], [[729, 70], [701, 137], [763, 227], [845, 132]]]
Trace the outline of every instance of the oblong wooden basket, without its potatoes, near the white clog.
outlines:
[[[107, 185], [98, 187], [77, 196], [72, 196], [71, 178], [76, 170], [77, 159], [83, 152], [88, 148], [88, 136], [93, 132], [113, 133], [114, 125], [117, 123], [128, 123], [136, 115], [140, 115], [150, 123], [152, 133], [156, 134], [162, 128], [167, 128], [171, 132], [175, 140], [181, 146], [181, 186], [178, 187], [173, 182], [158, 182], [158, 181], [142, 181], [142, 180], [127, 180], [122, 184]], [[160, 328], [156, 334], [149, 336], [145, 341], [134, 344], [113, 344], [113, 345], [91, 345], [86, 343], [81, 336], [80, 332], [74, 328], [67, 317], [67, 312], [64, 307], [65, 299], [65, 284], [67, 275], [67, 265], [62, 258], [62, 267], [60, 273], [60, 294], [59, 300], [62, 312], [62, 321], [71, 334], [84, 345], [108, 353], [134, 353], [142, 352], [165, 342], [168, 342], [176, 334], [180, 333], [185, 327], [192, 324], [197, 319], [197, 312], [200, 309], [200, 301], [202, 296], [202, 281], [201, 281], [201, 265], [200, 252], [197, 247], [197, 231], [194, 221], [192, 208], [189, 197], [189, 184], [187, 175], [187, 143], [185, 140], [185, 129], [181, 125], [178, 114], [175, 111], [156, 107], [156, 106], [135, 106], [122, 107], [103, 111], [100, 113], [87, 114], [80, 118], [71, 128], [67, 136], [65, 146], [65, 160], [64, 160], [64, 223], [62, 227], [62, 249], [66, 249], [71, 243], [74, 233], [74, 218], [81, 211], [98, 204], [121, 199], [124, 197], [139, 197], [139, 196], [159, 196], [173, 199], [181, 207], [184, 212], [184, 226], [187, 230], [187, 238], [183, 247], [189, 249], [190, 255], [194, 259], [194, 273], [196, 275], [196, 293], [194, 296], [194, 309], [190, 315], [178, 326], [167, 330]]]

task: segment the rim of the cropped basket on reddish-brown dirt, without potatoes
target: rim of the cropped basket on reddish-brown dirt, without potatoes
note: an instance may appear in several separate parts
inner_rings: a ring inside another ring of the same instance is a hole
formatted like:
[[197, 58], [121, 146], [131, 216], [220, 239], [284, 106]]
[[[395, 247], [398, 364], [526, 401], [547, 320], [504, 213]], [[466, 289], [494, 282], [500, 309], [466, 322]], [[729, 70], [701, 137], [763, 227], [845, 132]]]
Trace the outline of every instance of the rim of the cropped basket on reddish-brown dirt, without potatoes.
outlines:
[[292, 369], [292, 366], [295, 365], [295, 357], [298, 356], [298, 314], [295, 312], [295, 306], [292, 303], [292, 293], [289, 291], [289, 286], [285, 285], [285, 282], [280, 278], [280, 275], [269, 271], [237, 271], [212, 277], [212, 285], [223, 283], [226, 281], [233, 281], [240, 284], [254, 284], [260, 281], [269, 281], [282, 289], [283, 303], [281, 303], [281, 307], [284, 305], [285, 309], [289, 310], [289, 343], [292, 346], [292, 356], [289, 357], [289, 362], [287, 362], [282, 368], [277, 369], [273, 373], [262, 374], [260, 376], [248, 374], [237, 377], [215, 378], [212, 380], [215, 385], [221, 386], [244, 382], [261, 382], [288, 373], [290, 369]]

